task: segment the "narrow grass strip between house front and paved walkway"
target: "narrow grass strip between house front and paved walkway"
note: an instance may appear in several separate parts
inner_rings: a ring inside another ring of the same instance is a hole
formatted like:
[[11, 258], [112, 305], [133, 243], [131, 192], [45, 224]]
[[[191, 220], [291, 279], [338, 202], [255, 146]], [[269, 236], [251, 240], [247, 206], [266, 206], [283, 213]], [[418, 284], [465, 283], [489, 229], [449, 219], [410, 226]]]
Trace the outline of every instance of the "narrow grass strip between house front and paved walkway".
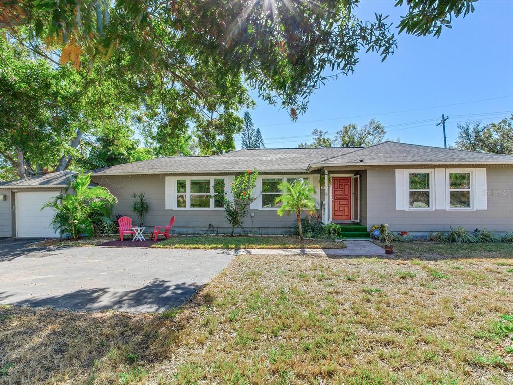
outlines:
[[247, 237], [247, 236], [191, 236], [170, 237], [155, 243], [155, 248], [344, 248], [343, 242], [324, 239], [305, 239], [298, 237]]

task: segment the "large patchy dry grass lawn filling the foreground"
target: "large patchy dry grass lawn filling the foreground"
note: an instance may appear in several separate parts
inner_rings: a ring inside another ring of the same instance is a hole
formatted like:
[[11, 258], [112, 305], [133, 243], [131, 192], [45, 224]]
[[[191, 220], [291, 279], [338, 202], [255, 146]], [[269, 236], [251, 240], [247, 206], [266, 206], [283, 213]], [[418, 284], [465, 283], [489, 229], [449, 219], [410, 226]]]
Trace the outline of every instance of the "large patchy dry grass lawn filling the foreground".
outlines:
[[513, 260], [239, 256], [160, 315], [0, 311], [1, 384], [511, 384]]

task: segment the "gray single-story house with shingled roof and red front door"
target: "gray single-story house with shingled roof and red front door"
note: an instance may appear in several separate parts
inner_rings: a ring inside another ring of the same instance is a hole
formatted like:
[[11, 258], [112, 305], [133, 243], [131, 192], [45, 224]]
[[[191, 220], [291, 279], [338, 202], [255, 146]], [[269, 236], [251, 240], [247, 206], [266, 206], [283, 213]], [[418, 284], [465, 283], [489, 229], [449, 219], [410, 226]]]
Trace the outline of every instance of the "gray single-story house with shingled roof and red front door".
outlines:
[[[363, 148], [245, 149], [102, 168], [92, 171], [92, 181], [116, 196], [114, 213], [134, 220], [133, 194], [145, 192], [151, 205], [148, 227], [168, 223], [174, 215], [175, 231], [203, 233], [210, 227], [229, 233], [224, 209], [211, 197], [213, 188], [224, 185], [230, 195], [233, 177], [248, 169], [259, 173], [257, 200], [244, 223], [251, 233], [293, 232], [294, 216], [279, 217], [274, 198], [280, 194], [280, 182], [299, 178], [314, 186], [324, 223], [361, 223], [367, 229], [388, 223], [392, 230], [422, 234], [457, 225], [513, 230], [513, 156], [509, 155], [396, 142]], [[13, 214], [24, 210], [26, 202], [16, 196], [29, 191], [25, 188], [48, 192], [61, 186], [34, 187], [34, 183], [35, 178], [29, 178], [0, 184], [0, 194], [11, 199], [0, 201], [0, 236], [30, 236], [19, 232], [18, 216]], [[37, 204], [46, 200], [42, 196]], [[35, 221], [40, 227], [48, 224], [46, 218]]]

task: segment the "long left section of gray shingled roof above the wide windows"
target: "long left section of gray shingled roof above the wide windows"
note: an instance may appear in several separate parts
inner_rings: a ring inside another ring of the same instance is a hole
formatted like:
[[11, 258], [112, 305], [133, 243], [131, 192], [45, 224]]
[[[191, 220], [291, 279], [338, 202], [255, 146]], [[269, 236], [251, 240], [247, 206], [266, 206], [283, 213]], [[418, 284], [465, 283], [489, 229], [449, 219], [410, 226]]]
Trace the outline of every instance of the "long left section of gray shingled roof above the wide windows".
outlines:
[[244, 149], [211, 157], [168, 157], [93, 170], [93, 175], [208, 174], [257, 169], [262, 172], [305, 172], [308, 165], [355, 148]]

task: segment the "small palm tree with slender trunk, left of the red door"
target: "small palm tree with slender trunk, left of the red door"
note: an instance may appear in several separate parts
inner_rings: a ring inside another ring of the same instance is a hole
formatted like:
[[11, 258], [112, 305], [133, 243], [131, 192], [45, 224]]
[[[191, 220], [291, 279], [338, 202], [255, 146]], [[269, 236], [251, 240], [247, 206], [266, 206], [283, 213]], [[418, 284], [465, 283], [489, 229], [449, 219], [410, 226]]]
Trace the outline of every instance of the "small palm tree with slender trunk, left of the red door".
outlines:
[[282, 195], [274, 200], [274, 203], [281, 204], [277, 214], [281, 217], [285, 213], [287, 213], [287, 215], [295, 213], [295, 218], [298, 221], [299, 238], [303, 239], [301, 211], [312, 213], [315, 210], [315, 200], [313, 198], [315, 191], [313, 186], [302, 179], [298, 179], [292, 184], [282, 182], [279, 188]]

